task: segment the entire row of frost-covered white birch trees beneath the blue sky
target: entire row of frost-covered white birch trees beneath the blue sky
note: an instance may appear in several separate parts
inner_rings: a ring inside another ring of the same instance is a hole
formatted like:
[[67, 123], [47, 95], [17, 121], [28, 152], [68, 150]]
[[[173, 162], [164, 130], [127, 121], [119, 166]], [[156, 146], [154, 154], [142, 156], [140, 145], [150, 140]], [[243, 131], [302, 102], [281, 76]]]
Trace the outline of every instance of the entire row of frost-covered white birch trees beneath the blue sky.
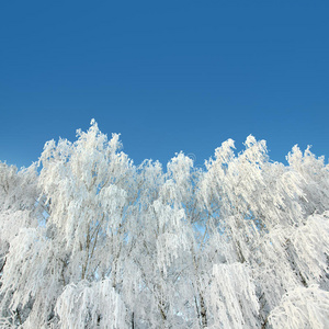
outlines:
[[[135, 166], [94, 121], [0, 163], [0, 328], [327, 328], [329, 166], [249, 136]], [[37, 168], [38, 166], [38, 168]]]

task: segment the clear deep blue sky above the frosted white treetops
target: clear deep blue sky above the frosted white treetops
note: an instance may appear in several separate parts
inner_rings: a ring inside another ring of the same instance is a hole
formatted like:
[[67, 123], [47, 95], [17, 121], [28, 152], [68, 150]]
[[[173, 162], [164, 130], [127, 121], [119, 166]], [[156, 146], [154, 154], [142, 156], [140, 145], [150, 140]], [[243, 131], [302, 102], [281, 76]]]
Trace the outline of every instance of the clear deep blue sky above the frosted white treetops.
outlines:
[[329, 1], [0, 2], [0, 160], [95, 118], [135, 163], [249, 134], [329, 156]]

